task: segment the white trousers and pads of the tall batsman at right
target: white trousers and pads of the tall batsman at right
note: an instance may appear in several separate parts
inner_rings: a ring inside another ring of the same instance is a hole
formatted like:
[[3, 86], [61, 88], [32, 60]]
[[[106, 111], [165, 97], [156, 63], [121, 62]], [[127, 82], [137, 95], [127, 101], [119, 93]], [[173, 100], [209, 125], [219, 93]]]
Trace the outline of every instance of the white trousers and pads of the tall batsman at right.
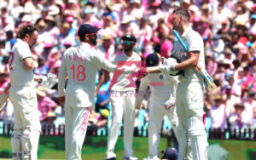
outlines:
[[189, 157], [191, 147], [193, 160], [207, 160], [207, 134], [202, 120], [203, 98], [203, 83], [177, 83], [176, 106], [179, 160]]

